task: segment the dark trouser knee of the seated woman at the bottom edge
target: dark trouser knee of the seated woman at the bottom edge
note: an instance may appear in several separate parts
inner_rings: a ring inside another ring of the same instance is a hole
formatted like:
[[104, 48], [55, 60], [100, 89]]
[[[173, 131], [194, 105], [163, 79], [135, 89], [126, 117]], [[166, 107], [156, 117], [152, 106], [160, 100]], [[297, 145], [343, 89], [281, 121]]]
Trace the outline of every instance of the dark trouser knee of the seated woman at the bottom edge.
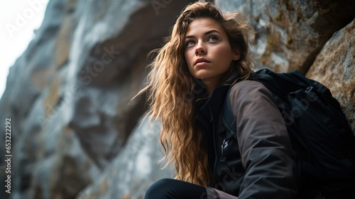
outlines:
[[164, 178], [155, 181], [147, 190], [145, 199], [204, 199], [206, 188], [201, 185]]

